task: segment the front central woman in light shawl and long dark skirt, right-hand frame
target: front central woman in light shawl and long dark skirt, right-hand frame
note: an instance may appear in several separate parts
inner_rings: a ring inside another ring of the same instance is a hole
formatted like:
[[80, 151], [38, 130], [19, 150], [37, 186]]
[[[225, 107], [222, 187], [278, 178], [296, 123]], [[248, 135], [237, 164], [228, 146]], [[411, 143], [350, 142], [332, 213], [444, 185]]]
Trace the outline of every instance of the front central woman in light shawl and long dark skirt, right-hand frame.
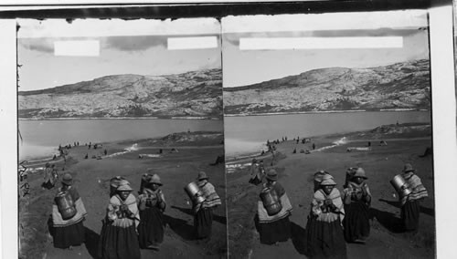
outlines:
[[324, 175], [321, 188], [314, 192], [312, 211], [306, 224], [306, 255], [310, 258], [346, 258], [341, 226], [345, 209], [335, 185], [331, 175]]

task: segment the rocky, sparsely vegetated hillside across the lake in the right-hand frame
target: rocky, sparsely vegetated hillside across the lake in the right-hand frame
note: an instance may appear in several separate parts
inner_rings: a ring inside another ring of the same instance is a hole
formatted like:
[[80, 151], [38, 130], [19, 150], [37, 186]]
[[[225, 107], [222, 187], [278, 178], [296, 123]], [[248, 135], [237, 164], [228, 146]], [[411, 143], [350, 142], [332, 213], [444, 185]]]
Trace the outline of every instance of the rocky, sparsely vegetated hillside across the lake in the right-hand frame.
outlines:
[[430, 60], [321, 68], [224, 88], [226, 114], [379, 109], [430, 109]]

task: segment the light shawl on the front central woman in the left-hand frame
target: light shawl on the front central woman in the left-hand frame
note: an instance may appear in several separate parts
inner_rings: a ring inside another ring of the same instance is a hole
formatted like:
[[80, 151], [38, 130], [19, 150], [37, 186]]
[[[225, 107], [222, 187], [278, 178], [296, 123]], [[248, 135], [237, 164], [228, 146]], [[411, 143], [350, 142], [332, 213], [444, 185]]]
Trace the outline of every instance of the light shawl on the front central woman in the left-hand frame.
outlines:
[[[116, 212], [121, 210], [121, 205], [127, 205], [130, 212], [133, 213], [133, 218], [122, 218], [120, 219]], [[136, 203], [136, 198], [133, 196], [132, 193], [129, 193], [129, 196], [122, 201], [119, 194], [115, 194], [110, 199], [110, 204], [108, 205], [107, 209], [107, 216], [110, 221], [112, 221], [112, 225], [120, 226], [120, 227], [130, 227], [132, 226], [133, 222], [136, 226], [140, 223], [140, 214], [138, 212], [138, 207]]]

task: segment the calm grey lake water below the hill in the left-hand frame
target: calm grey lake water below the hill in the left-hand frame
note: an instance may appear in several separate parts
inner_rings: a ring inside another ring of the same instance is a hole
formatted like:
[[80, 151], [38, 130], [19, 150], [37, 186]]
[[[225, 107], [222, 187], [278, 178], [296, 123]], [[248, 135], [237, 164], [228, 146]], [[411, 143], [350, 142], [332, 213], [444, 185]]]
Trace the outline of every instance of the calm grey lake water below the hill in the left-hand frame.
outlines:
[[58, 145], [164, 137], [175, 132], [222, 131], [215, 119], [58, 119], [19, 120], [19, 160], [48, 158]]

